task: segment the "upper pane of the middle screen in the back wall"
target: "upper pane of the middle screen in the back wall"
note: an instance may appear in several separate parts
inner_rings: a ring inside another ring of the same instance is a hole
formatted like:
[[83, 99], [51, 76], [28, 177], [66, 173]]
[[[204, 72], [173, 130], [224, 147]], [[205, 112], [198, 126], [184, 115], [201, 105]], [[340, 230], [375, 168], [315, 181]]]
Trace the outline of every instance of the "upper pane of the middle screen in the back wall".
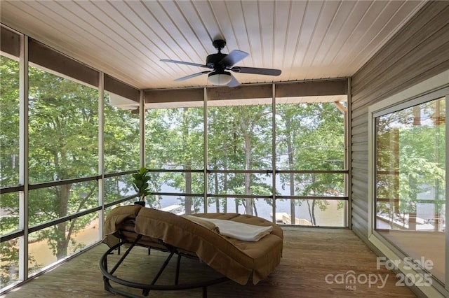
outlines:
[[246, 101], [208, 107], [208, 169], [272, 168], [272, 99]]

